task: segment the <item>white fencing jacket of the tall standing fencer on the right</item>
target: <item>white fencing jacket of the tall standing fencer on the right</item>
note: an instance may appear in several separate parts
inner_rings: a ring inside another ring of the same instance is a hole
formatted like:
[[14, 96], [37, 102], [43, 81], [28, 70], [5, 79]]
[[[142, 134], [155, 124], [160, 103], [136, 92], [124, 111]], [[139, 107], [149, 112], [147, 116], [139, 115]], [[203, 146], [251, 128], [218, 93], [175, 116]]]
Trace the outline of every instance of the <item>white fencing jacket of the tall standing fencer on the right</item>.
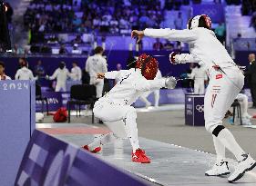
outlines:
[[192, 30], [145, 29], [144, 34], [150, 37], [165, 38], [169, 41], [179, 41], [189, 44], [190, 54], [179, 54], [181, 64], [199, 63], [210, 70], [213, 65], [221, 68], [234, 66], [232, 58], [225, 47], [216, 38], [214, 32], [198, 27]]

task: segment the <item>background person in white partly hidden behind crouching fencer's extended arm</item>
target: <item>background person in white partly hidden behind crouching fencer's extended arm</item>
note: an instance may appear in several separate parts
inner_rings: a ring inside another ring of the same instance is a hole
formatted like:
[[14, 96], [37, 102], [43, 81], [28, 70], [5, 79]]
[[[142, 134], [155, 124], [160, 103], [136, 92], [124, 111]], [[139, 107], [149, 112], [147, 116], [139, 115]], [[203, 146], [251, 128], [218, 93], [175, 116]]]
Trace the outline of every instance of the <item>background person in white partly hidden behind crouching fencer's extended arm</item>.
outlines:
[[[162, 73], [160, 72], [160, 70], [158, 70], [158, 73], [157, 73], [155, 79], [160, 79], [160, 78], [162, 78]], [[143, 93], [139, 97], [139, 99], [146, 104], [146, 107], [151, 106], [151, 103], [147, 99], [147, 97], [150, 93], [152, 93], [152, 92]], [[154, 90], [153, 93], [154, 93], [154, 98], [155, 98], [155, 107], [159, 107], [160, 90], [159, 89]]]

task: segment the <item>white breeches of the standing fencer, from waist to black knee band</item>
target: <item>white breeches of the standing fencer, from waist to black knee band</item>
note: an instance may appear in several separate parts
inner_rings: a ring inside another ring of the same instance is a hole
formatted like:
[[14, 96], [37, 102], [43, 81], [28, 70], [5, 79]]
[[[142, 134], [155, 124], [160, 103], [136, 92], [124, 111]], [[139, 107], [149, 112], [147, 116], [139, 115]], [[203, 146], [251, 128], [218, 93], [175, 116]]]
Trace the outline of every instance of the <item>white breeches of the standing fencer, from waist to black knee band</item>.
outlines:
[[225, 113], [241, 92], [244, 83], [244, 76], [237, 67], [224, 69], [226, 74], [212, 71], [204, 97], [205, 127], [209, 132], [222, 124]]

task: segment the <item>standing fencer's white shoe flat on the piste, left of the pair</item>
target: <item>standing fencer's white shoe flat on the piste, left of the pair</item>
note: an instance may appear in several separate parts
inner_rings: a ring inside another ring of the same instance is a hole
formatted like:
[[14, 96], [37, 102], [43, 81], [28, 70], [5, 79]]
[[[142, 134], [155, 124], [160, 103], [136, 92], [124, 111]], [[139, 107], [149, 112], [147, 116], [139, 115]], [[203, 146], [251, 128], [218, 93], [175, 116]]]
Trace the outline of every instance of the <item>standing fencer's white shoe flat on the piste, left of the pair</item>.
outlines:
[[219, 162], [213, 165], [212, 169], [205, 172], [206, 176], [222, 176], [230, 174], [228, 162]]

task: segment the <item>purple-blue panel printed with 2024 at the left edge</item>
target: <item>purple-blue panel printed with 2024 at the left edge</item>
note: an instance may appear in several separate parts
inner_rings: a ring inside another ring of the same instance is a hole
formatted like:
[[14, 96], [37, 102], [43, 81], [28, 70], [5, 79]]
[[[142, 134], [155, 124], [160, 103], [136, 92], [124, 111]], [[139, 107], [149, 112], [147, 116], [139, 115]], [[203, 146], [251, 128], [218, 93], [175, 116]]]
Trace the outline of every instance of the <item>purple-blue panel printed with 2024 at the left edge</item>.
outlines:
[[35, 129], [35, 82], [0, 81], [0, 185], [14, 185]]

